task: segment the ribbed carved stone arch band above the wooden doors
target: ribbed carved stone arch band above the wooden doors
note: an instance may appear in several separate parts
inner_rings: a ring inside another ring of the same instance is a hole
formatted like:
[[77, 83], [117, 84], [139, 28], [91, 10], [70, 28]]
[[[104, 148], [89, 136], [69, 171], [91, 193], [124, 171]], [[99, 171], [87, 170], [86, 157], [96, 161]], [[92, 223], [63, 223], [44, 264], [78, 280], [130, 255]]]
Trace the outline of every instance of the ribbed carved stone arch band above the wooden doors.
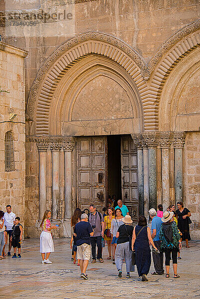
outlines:
[[62, 77], [80, 59], [96, 54], [121, 65], [141, 94], [147, 89], [142, 75], [145, 63], [140, 55], [121, 40], [98, 32], [73, 37], [61, 45], [41, 67], [30, 91], [27, 115], [36, 120], [37, 136], [49, 135], [49, 109]]

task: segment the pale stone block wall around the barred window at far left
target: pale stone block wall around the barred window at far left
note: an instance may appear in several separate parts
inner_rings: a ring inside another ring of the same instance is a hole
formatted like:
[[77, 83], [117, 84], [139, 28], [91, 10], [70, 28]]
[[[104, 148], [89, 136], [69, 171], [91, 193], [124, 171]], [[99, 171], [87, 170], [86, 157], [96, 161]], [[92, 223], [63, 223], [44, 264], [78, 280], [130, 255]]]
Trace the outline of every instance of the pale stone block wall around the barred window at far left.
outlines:
[[[25, 98], [24, 57], [26, 51], [0, 42], [0, 209], [12, 211], [24, 226], [25, 204]], [[16, 114], [10, 120], [10, 114]], [[13, 139], [14, 169], [4, 171], [4, 138], [11, 132]]]

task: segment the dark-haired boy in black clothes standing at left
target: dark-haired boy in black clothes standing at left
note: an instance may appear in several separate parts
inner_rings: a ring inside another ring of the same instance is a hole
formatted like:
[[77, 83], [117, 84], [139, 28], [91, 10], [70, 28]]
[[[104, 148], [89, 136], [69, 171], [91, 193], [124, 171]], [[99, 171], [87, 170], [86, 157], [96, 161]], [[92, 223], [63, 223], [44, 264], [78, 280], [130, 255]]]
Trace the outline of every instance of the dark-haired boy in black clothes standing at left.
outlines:
[[[13, 258], [20, 258], [21, 255], [21, 239], [22, 239], [22, 225], [19, 223], [20, 218], [16, 217], [14, 221], [14, 225], [12, 226], [12, 235], [11, 235], [11, 241], [12, 241], [12, 247], [14, 249], [14, 254], [12, 256]], [[16, 248], [18, 248], [18, 255], [16, 256]]]

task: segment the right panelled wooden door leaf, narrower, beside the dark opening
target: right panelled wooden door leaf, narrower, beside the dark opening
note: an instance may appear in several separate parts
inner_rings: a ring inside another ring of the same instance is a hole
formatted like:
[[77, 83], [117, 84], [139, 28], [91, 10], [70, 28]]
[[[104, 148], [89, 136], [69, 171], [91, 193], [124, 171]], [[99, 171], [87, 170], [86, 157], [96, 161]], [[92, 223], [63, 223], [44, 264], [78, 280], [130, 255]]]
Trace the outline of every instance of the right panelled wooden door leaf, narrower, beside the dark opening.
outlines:
[[139, 217], [137, 150], [130, 136], [121, 136], [122, 200], [134, 221]]

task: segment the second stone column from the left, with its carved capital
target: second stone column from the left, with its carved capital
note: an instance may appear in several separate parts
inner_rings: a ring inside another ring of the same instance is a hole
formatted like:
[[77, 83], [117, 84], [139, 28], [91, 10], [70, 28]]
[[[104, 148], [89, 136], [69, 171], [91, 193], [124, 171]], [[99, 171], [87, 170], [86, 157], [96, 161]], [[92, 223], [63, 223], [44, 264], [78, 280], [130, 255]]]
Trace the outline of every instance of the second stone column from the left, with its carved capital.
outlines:
[[50, 143], [52, 151], [52, 219], [57, 219], [58, 203], [60, 198], [60, 181], [59, 181], [59, 149], [58, 143]]

